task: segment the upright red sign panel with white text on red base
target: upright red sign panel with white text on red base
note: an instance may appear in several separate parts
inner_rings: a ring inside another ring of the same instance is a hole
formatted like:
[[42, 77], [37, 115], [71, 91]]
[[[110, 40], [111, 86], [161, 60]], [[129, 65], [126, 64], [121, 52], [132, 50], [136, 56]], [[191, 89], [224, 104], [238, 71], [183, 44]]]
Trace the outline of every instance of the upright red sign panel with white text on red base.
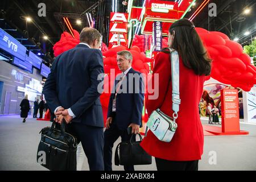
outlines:
[[237, 89], [221, 90], [222, 132], [239, 132], [239, 110]]

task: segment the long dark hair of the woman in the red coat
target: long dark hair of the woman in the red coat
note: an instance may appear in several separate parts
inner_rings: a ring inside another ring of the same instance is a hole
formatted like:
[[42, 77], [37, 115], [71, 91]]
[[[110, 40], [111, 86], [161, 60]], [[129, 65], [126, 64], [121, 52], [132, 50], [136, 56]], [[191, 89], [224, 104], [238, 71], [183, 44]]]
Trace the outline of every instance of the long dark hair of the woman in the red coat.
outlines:
[[174, 22], [169, 32], [174, 34], [171, 48], [179, 53], [185, 67], [193, 69], [196, 75], [210, 75], [212, 60], [209, 59], [194, 24], [183, 18]]

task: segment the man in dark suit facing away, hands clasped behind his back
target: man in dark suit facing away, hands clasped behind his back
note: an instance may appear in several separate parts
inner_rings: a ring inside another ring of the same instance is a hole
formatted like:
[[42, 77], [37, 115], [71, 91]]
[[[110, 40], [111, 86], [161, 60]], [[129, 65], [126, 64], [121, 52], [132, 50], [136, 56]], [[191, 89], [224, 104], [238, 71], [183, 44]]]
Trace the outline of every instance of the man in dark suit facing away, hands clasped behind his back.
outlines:
[[68, 132], [81, 141], [90, 170], [104, 170], [104, 121], [97, 87], [104, 75], [101, 34], [84, 28], [80, 43], [57, 56], [51, 67], [44, 96], [56, 122], [68, 123]]

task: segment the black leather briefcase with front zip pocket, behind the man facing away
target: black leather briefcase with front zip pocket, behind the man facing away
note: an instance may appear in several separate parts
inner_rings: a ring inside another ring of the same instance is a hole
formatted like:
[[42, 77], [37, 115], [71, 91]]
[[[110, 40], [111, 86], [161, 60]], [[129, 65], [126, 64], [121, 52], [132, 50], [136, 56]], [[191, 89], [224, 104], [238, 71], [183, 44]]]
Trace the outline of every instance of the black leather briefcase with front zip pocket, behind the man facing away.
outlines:
[[54, 171], [76, 170], [77, 139], [65, 132], [66, 123], [61, 123], [61, 129], [55, 128], [56, 122], [51, 127], [45, 127], [38, 146], [37, 162], [43, 167]]

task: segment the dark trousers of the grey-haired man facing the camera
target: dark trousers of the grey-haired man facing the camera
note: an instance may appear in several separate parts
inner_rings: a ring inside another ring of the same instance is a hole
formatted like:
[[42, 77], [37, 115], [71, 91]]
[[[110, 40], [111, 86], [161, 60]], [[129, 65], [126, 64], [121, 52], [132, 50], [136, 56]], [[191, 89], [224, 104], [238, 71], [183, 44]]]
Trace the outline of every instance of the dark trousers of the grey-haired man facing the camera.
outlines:
[[[127, 133], [127, 130], [119, 130], [116, 122], [114, 121], [110, 125], [109, 129], [104, 132], [104, 167], [105, 171], [112, 171], [112, 149], [115, 141], [121, 137], [122, 142], [126, 142], [130, 139], [131, 135]], [[135, 135], [132, 138], [135, 141]], [[134, 171], [134, 166], [123, 166], [125, 171]]]

